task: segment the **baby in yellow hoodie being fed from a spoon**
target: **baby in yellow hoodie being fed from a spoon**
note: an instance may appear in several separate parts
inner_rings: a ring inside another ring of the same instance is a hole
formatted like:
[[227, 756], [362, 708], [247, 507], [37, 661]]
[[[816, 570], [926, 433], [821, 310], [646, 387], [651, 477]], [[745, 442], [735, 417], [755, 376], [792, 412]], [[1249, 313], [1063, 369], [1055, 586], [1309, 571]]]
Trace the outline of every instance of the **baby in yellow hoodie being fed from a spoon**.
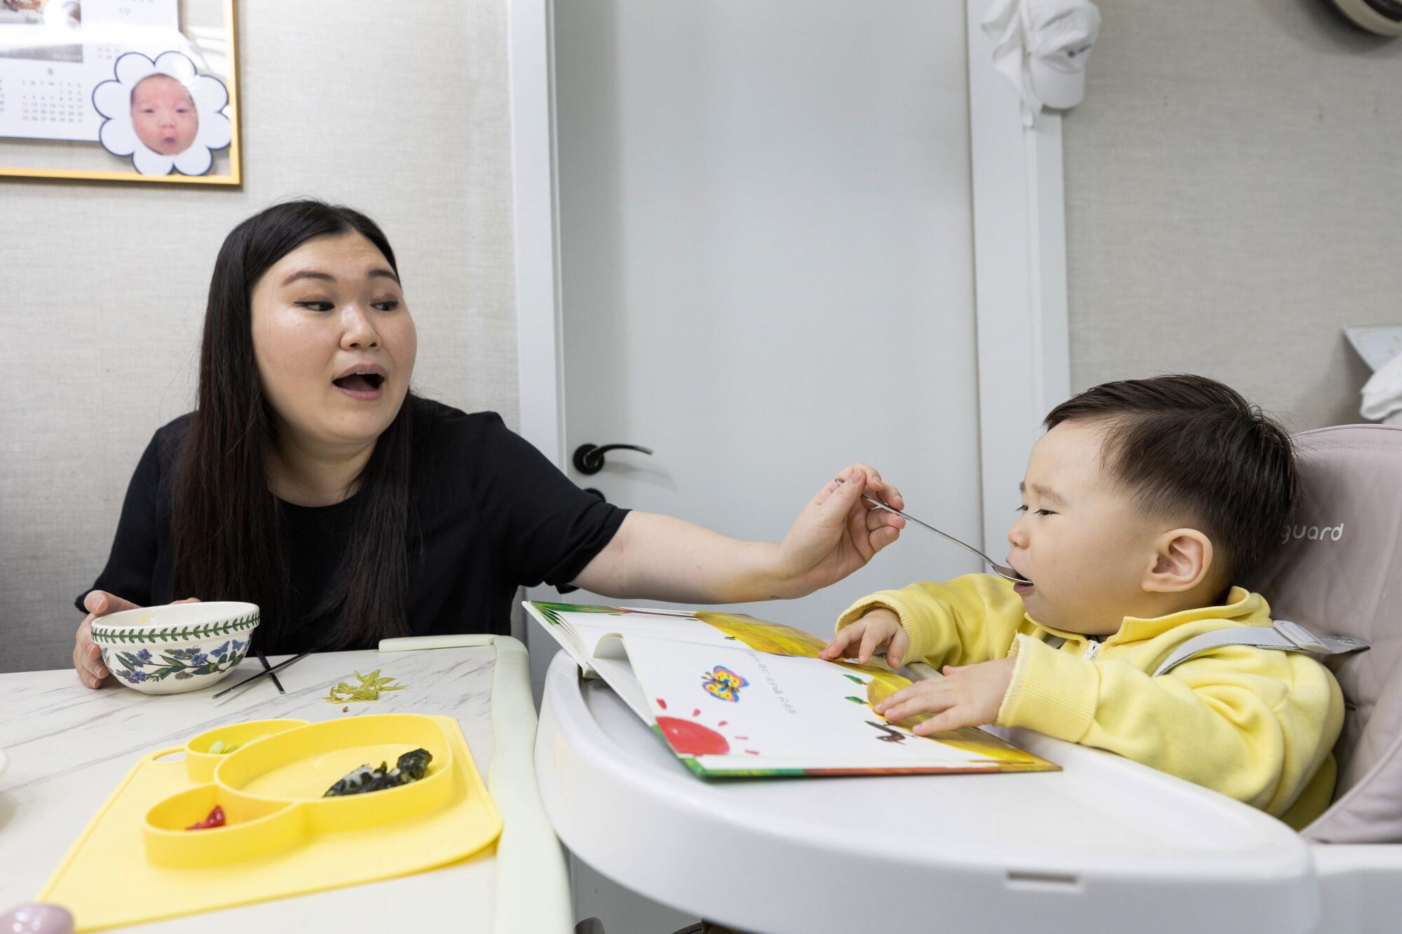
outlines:
[[1307, 655], [1230, 645], [1155, 677], [1213, 630], [1269, 627], [1245, 579], [1295, 496], [1286, 431], [1200, 376], [1106, 383], [1057, 405], [1033, 446], [1007, 564], [880, 590], [848, 609], [823, 658], [945, 677], [878, 704], [917, 733], [998, 724], [1108, 749], [1294, 827], [1333, 792], [1343, 725], [1333, 676]]

